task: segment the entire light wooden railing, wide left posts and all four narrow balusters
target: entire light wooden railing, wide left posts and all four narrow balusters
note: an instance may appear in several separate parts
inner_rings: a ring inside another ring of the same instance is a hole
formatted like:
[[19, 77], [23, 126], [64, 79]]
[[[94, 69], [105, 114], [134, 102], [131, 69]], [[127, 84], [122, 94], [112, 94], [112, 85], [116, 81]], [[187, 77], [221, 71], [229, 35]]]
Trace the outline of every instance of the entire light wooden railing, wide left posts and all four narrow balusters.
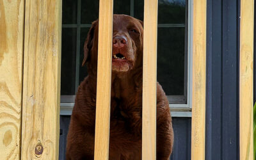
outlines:
[[[25, 6], [26, 4], [26, 6]], [[241, 0], [240, 159], [252, 159], [253, 0]], [[205, 159], [206, 1], [193, 1], [191, 159]], [[100, 0], [95, 159], [108, 159], [113, 0]], [[145, 0], [143, 159], [156, 159], [157, 0]], [[61, 0], [0, 1], [0, 159], [58, 159]], [[103, 55], [103, 54], [102, 54]], [[150, 64], [150, 65], [149, 65]]]

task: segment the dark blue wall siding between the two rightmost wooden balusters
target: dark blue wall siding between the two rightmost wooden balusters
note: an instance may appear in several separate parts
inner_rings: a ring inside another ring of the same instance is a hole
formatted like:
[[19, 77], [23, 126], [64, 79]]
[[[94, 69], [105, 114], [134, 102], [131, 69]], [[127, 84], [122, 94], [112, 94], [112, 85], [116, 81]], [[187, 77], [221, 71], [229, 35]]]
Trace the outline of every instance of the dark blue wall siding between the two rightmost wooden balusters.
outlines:
[[239, 159], [239, 1], [207, 1], [205, 159]]

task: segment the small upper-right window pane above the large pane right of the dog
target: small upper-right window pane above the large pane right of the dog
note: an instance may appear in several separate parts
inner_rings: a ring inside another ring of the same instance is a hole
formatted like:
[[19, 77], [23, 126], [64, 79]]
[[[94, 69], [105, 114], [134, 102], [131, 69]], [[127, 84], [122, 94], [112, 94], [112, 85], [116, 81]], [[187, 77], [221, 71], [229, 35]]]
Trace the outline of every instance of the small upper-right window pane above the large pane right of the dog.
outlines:
[[159, 0], [158, 23], [184, 24], [186, 0]]

